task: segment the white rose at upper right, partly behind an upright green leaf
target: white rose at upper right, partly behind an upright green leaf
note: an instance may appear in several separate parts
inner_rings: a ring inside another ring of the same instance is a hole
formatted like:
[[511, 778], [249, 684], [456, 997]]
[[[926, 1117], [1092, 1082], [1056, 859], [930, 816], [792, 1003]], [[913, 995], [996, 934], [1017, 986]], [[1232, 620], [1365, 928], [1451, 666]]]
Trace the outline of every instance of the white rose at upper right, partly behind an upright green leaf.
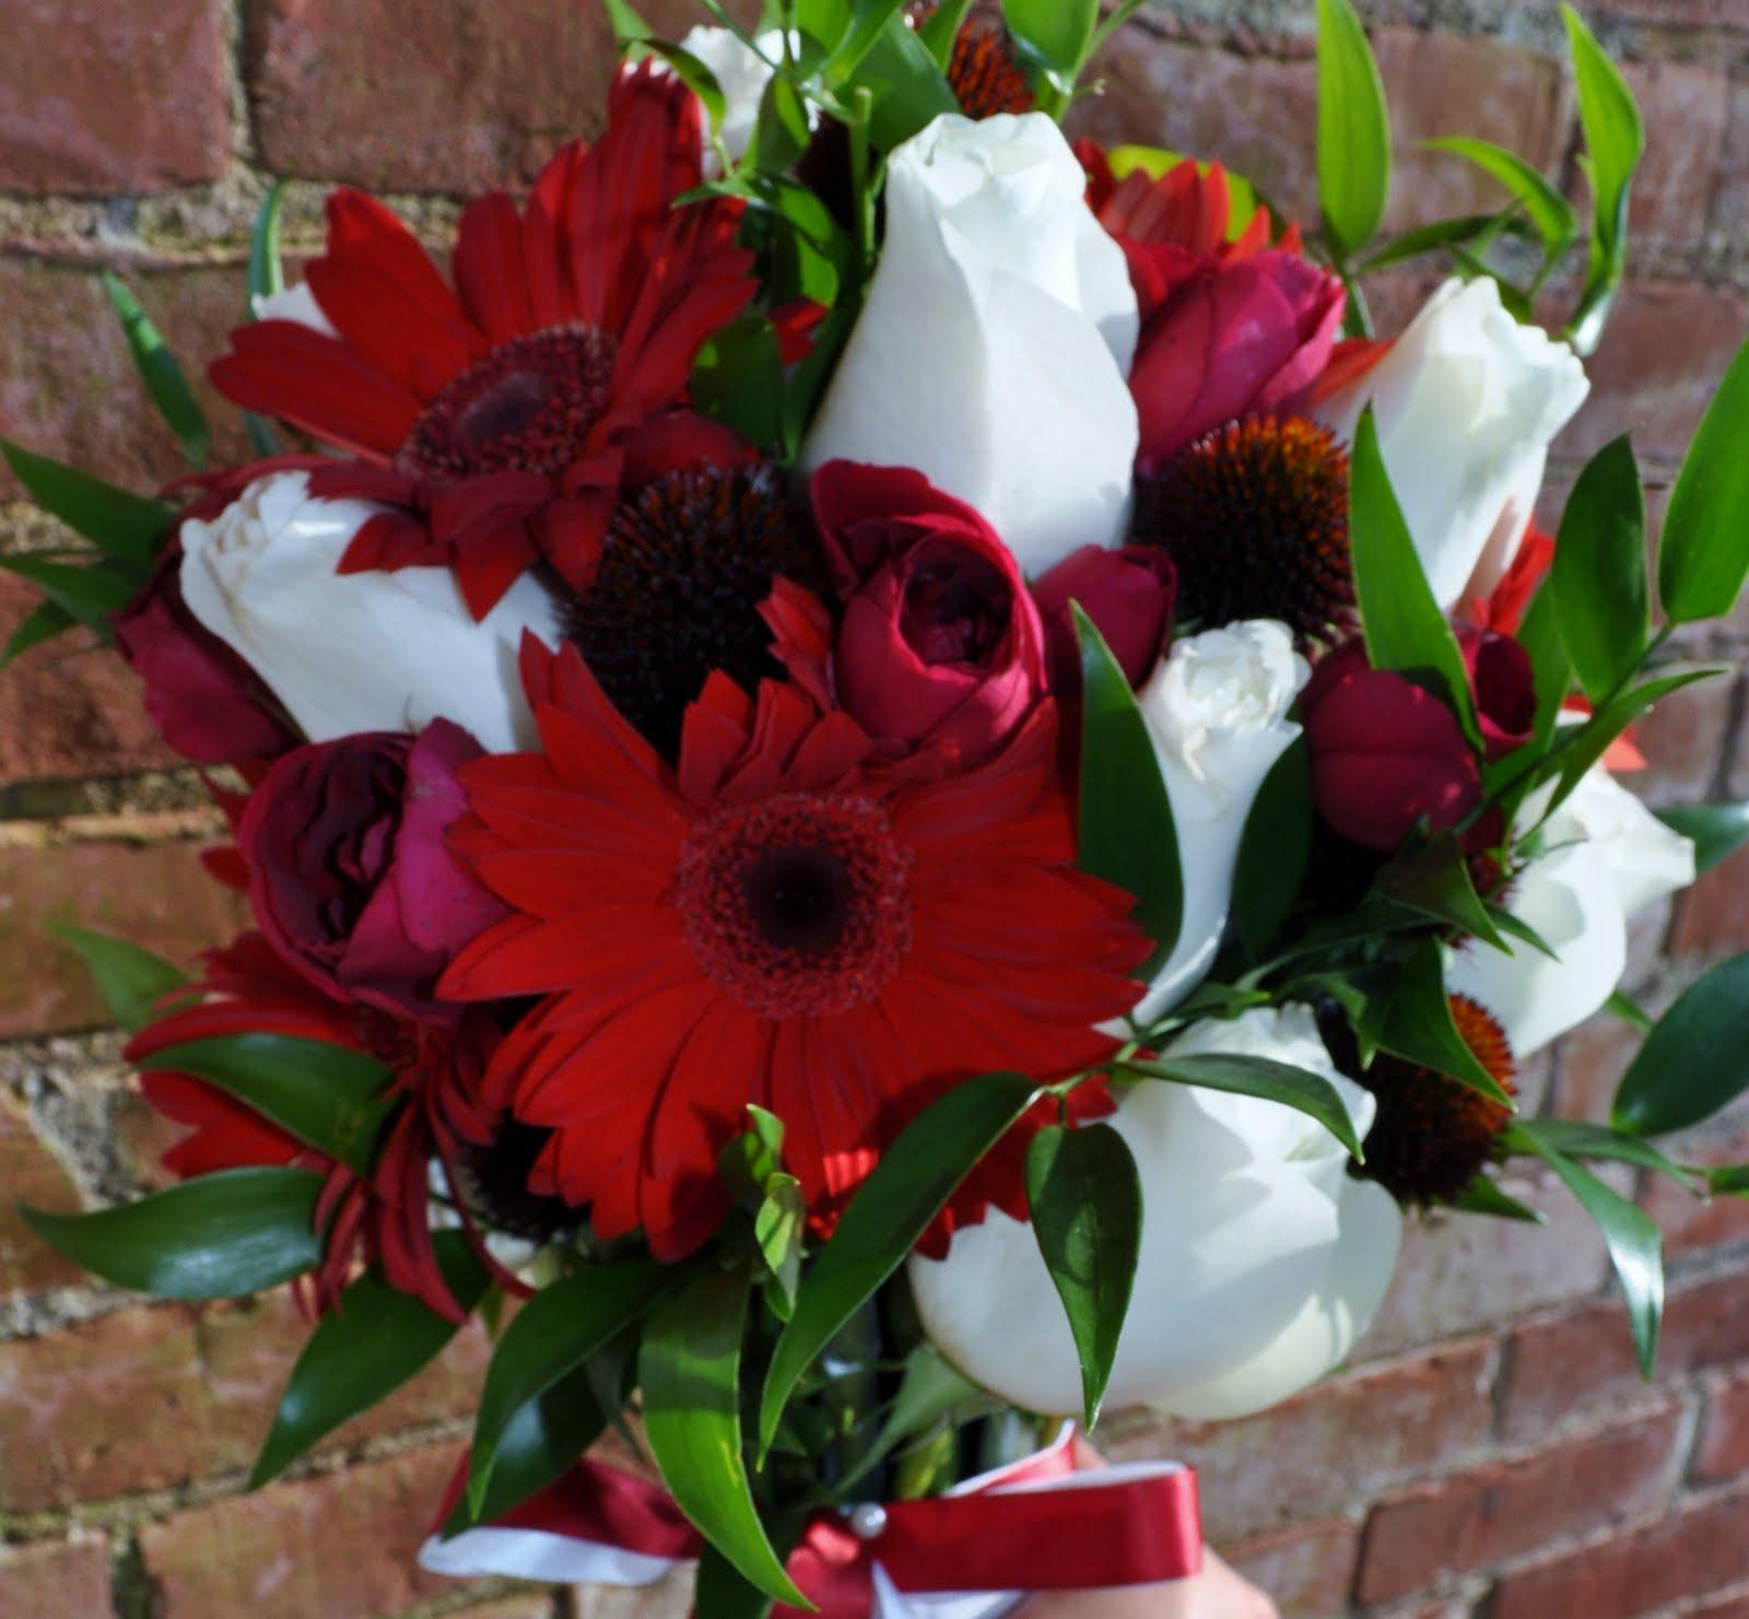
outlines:
[[1513, 320], [1480, 276], [1446, 281], [1366, 376], [1312, 414], [1352, 441], [1373, 406], [1390, 486], [1450, 608], [1511, 565], [1548, 446], [1590, 386], [1572, 350]]

